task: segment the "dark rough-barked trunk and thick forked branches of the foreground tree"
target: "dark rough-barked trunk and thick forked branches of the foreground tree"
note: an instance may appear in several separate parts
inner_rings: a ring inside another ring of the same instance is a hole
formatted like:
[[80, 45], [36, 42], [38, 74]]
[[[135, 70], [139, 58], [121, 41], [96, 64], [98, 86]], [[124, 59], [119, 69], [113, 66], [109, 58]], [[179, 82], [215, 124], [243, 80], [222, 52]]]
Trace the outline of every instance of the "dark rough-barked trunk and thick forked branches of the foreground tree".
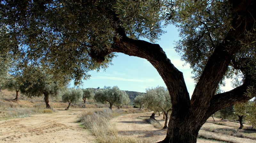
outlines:
[[[234, 59], [236, 52], [241, 49], [241, 45], [236, 39], [243, 39], [245, 31], [251, 32], [254, 26], [254, 19], [256, 19], [256, 13], [253, 11], [256, 6], [255, 1], [230, 0], [229, 3], [231, 7], [233, 6], [232, 18], [234, 20], [231, 24], [236, 30], [230, 29], [225, 39], [214, 47], [215, 50], [204, 67], [191, 100], [182, 72], [173, 66], [163, 49], [158, 44], [128, 38], [124, 28], [118, 26], [121, 23], [119, 23], [120, 21], [115, 12], [110, 11], [113, 15], [109, 18], [116, 22], [112, 26], [122, 38], [114, 37], [112, 49], [102, 51], [98, 55], [92, 54], [91, 56], [96, 61], [102, 62], [102, 59], [107, 54], [119, 52], [144, 58], [156, 68], [164, 80], [172, 99], [171, 118], [166, 138], [160, 141], [161, 143], [196, 143], [201, 126], [213, 113], [250, 99], [250, 97], [244, 95], [244, 92], [246, 92], [248, 86], [255, 85], [255, 80], [252, 77], [253, 75], [242, 69], [243, 66], [237, 67], [245, 75], [244, 83], [231, 91], [215, 95], [215, 90], [227, 71], [228, 65]], [[233, 3], [236, 4], [233, 5]], [[93, 49], [91, 50], [93, 51]]]

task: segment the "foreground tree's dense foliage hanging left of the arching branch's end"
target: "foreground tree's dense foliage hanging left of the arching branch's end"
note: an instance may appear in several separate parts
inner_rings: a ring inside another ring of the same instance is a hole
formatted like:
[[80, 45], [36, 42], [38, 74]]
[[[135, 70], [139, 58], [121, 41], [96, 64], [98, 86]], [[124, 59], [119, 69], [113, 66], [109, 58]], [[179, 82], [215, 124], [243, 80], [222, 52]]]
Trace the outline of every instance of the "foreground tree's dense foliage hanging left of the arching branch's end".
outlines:
[[[166, 1], [102, 0], [81, 2], [1, 1], [0, 54], [16, 55], [19, 67], [27, 63], [40, 65], [55, 79], [65, 75], [66, 80], [88, 79], [88, 71], [107, 68], [114, 54], [97, 63], [89, 56], [108, 50], [118, 17], [131, 38], [155, 41], [164, 33], [161, 16]], [[60, 78], [61, 79], [61, 78]], [[65, 81], [65, 80], [63, 80]]]

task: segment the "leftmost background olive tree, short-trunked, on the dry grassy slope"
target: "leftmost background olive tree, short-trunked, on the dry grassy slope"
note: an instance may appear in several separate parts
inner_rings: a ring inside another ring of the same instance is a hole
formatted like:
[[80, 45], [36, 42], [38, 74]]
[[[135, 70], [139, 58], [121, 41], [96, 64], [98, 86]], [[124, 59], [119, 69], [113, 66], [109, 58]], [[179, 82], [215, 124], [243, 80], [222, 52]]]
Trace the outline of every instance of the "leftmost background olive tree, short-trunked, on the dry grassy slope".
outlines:
[[12, 77], [9, 80], [7, 80], [3, 85], [3, 89], [16, 92], [15, 99], [13, 99], [16, 101], [18, 101], [19, 99], [19, 91], [20, 91], [20, 82], [18, 82], [17, 80], [19, 80], [18, 77], [17, 78]]

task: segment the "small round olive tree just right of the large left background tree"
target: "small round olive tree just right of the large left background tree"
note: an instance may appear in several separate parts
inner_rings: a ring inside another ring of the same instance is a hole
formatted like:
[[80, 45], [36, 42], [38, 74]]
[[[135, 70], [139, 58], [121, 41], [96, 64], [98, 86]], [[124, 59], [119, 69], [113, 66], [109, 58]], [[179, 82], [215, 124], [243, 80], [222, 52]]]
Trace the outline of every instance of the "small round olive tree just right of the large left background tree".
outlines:
[[83, 90], [82, 89], [66, 89], [62, 95], [62, 101], [68, 102], [69, 108], [71, 103], [77, 103], [83, 97]]

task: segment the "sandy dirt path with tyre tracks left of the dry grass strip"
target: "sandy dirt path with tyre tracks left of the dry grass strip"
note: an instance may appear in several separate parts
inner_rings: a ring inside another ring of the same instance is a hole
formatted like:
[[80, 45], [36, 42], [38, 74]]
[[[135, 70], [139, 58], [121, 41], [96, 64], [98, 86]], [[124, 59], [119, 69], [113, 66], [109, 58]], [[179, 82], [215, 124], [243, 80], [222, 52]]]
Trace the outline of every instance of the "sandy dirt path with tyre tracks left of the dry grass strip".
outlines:
[[94, 143], [95, 137], [75, 123], [79, 113], [95, 109], [57, 110], [57, 113], [32, 115], [0, 121], [2, 143]]

